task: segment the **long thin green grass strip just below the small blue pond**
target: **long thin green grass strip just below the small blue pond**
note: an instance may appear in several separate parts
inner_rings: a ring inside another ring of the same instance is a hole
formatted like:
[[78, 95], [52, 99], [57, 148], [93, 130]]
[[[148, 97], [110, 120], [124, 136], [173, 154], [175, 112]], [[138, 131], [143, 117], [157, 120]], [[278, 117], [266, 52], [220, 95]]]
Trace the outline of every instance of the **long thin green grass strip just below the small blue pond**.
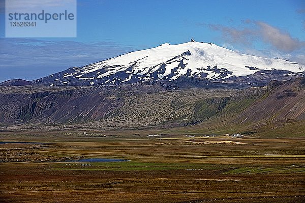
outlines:
[[[227, 164], [154, 163], [154, 162], [88, 162], [56, 163], [49, 170], [61, 171], [214, 171], [216, 174], [304, 174], [305, 166], [238, 167]], [[235, 168], [234, 168], [235, 167]], [[234, 169], [232, 169], [234, 168]]]

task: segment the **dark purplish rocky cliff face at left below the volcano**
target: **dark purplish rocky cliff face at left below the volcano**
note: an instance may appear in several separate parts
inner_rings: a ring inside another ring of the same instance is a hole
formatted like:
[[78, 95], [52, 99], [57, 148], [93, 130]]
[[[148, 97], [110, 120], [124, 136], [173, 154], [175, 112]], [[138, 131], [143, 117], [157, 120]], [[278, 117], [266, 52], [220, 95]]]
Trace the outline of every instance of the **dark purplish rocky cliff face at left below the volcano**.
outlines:
[[0, 94], [0, 122], [71, 123], [98, 120], [123, 105], [107, 88]]

